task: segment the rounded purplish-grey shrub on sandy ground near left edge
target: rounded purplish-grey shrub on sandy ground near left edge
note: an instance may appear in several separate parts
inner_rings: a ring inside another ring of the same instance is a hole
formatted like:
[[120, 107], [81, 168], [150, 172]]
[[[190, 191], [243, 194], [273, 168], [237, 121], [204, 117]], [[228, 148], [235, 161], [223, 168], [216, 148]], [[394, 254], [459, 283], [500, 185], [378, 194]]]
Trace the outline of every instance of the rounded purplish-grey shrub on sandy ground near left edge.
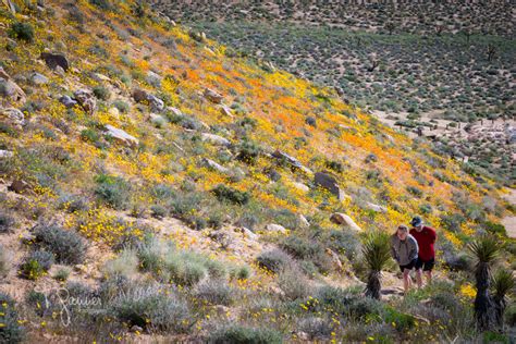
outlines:
[[71, 230], [41, 224], [36, 228], [35, 237], [37, 244], [51, 251], [60, 263], [76, 265], [84, 260], [86, 243]]

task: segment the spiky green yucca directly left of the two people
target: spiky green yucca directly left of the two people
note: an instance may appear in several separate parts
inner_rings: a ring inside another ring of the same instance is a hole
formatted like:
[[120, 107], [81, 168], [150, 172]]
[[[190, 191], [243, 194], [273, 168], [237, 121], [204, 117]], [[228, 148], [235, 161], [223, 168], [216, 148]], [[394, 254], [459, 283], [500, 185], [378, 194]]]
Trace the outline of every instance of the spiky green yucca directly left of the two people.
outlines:
[[369, 269], [366, 296], [380, 299], [381, 272], [391, 258], [390, 236], [383, 232], [373, 232], [364, 241], [364, 259]]

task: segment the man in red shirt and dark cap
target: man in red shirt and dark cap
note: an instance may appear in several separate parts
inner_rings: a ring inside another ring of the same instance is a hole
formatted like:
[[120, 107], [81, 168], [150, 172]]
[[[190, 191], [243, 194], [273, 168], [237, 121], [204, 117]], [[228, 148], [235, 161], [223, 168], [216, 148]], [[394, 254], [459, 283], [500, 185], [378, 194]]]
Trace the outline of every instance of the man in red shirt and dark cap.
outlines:
[[418, 258], [416, 261], [416, 282], [418, 287], [422, 286], [422, 271], [427, 277], [427, 284], [432, 282], [432, 269], [435, 265], [435, 230], [423, 225], [421, 218], [415, 217], [410, 224], [414, 226], [410, 230], [410, 235], [414, 236], [419, 246]]

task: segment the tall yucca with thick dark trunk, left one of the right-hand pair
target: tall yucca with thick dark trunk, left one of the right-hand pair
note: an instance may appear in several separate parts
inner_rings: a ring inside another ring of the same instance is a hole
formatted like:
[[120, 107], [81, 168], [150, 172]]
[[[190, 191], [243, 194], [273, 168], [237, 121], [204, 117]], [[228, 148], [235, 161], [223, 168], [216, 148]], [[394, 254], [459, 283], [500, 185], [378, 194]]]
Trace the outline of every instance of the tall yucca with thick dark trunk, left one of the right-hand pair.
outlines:
[[480, 330], [489, 330], [494, 322], [494, 302], [489, 294], [491, 266], [499, 255], [499, 242], [493, 236], [484, 235], [468, 246], [476, 260], [475, 280], [477, 296], [475, 297], [475, 318]]

